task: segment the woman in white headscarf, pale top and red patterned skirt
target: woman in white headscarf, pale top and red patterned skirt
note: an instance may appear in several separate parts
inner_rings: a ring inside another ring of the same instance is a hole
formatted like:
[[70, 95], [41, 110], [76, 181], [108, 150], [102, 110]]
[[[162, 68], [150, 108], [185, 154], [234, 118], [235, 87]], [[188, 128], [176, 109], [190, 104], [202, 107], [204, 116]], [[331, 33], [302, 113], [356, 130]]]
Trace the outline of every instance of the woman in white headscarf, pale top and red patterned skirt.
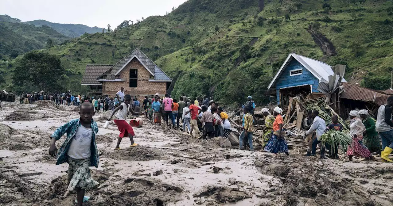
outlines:
[[366, 130], [362, 120], [360, 120], [360, 115], [358, 111], [349, 112], [349, 117], [351, 120], [351, 125], [349, 126], [350, 133], [349, 136], [352, 137], [351, 145], [348, 145], [347, 155], [349, 157], [349, 161], [352, 160], [353, 155], [364, 157], [365, 160], [373, 160], [375, 157], [371, 155], [370, 151], [366, 146], [364, 146], [363, 140], [363, 132]]

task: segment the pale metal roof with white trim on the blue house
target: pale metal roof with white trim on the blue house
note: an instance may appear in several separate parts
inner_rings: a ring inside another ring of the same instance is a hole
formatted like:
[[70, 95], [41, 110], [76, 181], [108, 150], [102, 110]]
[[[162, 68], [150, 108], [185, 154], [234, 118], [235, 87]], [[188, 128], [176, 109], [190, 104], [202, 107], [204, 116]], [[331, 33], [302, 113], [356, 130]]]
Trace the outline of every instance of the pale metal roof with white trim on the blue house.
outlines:
[[[332, 67], [329, 64], [325, 64], [318, 60], [304, 57], [295, 53], [290, 53], [286, 58], [285, 62], [283, 63], [283, 65], [278, 70], [273, 80], [270, 82], [268, 89], [270, 89], [270, 87], [272, 87], [275, 84], [275, 81], [285, 70], [286, 66], [288, 66], [288, 63], [292, 60], [292, 58], [298, 60], [298, 62], [301, 65], [303, 65], [306, 69], [308, 69], [316, 78], [318, 78], [320, 82], [329, 83], [329, 76], [334, 75], [334, 71], [332, 70]], [[347, 81], [343, 79], [342, 82], [347, 82]]]

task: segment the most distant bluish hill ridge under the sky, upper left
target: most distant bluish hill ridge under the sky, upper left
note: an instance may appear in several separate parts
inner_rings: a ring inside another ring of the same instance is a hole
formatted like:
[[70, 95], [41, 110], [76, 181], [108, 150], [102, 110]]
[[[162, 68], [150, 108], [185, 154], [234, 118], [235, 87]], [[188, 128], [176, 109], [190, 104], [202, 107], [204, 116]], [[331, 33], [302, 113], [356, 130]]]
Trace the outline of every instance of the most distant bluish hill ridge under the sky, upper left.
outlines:
[[[64, 36], [69, 36], [72, 38], [79, 37], [83, 35], [84, 33], [89, 33], [89, 34], [94, 34], [98, 32], [102, 32], [103, 28], [99, 27], [88, 27], [83, 24], [59, 24], [59, 23], [52, 23], [48, 22], [46, 20], [34, 20], [34, 21], [29, 21], [29, 22], [24, 22], [28, 24], [33, 24], [35, 26], [49, 26], [53, 29], [55, 29], [57, 32], [63, 34]], [[106, 32], [107, 29], [104, 29]]]

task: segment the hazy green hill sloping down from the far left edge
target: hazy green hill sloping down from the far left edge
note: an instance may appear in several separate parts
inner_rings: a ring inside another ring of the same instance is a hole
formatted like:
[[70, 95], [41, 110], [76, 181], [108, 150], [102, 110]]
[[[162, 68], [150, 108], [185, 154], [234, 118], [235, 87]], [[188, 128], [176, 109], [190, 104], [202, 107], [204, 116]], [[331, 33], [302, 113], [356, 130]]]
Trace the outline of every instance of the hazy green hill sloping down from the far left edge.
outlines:
[[48, 39], [55, 45], [70, 38], [47, 26], [35, 27], [24, 24], [17, 18], [0, 15], [0, 60], [45, 48], [48, 46]]

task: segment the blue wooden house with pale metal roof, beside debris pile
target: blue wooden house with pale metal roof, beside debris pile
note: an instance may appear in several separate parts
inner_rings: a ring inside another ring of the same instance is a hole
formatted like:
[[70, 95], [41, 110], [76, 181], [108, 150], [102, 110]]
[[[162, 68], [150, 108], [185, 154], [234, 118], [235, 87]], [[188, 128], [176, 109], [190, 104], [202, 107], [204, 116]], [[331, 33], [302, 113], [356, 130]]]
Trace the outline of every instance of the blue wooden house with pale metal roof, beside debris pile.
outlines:
[[[291, 53], [286, 58], [268, 89], [274, 89], [277, 104], [287, 105], [289, 97], [309, 93], [320, 93], [320, 82], [329, 84], [329, 76], [334, 75], [332, 67], [318, 60]], [[342, 82], [346, 82], [344, 79]]]

